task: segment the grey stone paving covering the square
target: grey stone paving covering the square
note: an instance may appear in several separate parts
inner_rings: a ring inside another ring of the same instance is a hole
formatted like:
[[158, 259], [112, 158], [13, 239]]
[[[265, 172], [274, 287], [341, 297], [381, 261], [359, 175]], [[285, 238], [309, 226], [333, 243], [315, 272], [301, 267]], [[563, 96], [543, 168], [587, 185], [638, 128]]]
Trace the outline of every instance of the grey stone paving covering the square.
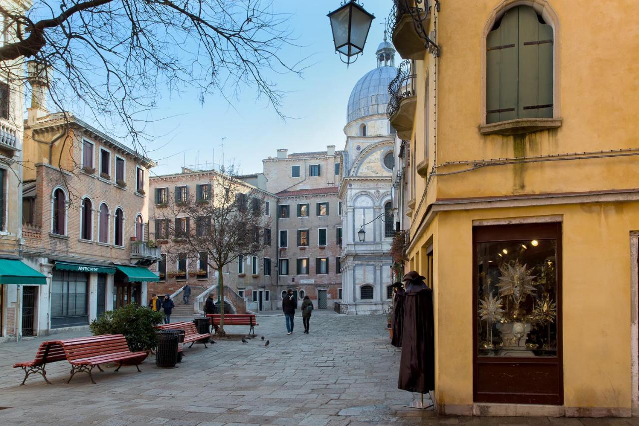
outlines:
[[[317, 311], [316, 311], [317, 312]], [[403, 407], [413, 399], [397, 390], [399, 352], [389, 344], [384, 320], [321, 312], [286, 335], [284, 317], [260, 316], [258, 336], [242, 343], [219, 340], [185, 349], [179, 368], [154, 368], [154, 359], [120, 372], [96, 372], [97, 384], [79, 374], [66, 384], [67, 363], [47, 368], [19, 386], [15, 361], [33, 359], [44, 338], [0, 345], [0, 425], [639, 425], [639, 419], [436, 417]], [[227, 327], [243, 333], [246, 327]], [[85, 333], [87, 334], [87, 333]], [[74, 335], [56, 335], [69, 338]]]

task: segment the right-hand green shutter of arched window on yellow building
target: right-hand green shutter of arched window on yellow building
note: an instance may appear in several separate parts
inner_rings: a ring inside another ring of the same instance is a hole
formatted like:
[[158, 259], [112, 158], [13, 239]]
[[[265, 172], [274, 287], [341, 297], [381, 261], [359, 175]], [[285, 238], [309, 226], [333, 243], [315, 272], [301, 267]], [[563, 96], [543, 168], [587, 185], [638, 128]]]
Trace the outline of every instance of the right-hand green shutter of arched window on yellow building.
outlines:
[[553, 116], [553, 29], [519, 6], [519, 118]]

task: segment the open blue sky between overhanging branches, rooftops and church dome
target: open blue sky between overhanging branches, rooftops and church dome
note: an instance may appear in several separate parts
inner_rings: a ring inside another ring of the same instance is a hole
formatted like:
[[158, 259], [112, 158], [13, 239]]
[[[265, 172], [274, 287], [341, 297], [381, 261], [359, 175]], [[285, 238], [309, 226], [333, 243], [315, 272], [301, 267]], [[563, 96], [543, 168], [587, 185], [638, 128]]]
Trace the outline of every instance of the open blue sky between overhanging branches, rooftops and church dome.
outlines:
[[183, 165], [210, 168], [212, 162], [222, 162], [222, 155], [224, 164], [233, 162], [240, 173], [258, 173], [262, 159], [275, 157], [278, 148], [288, 148], [289, 154], [323, 151], [327, 145], [344, 148], [348, 97], [358, 79], [376, 67], [375, 51], [391, 2], [360, 1], [375, 19], [364, 54], [348, 68], [335, 54], [326, 16], [340, 6], [339, 0], [274, 0], [273, 4], [275, 12], [291, 14], [289, 29], [302, 46], [285, 47], [282, 58], [296, 62], [309, 57], [302, 79], [277, 75], [278, 87], [289, 92], [282, 111], [291, 118], [279, 118], [252, 90], [244, 90], [232, 105], [220, 95], [210, 95], [201, 104], [198, 94], [189, 90], [179, 97], [167, 95], [154, 113], [165, 118], [149, 129], [158, 135], [146, 145], [148, 156], [158, 162], [152, 174], [178, 173]]

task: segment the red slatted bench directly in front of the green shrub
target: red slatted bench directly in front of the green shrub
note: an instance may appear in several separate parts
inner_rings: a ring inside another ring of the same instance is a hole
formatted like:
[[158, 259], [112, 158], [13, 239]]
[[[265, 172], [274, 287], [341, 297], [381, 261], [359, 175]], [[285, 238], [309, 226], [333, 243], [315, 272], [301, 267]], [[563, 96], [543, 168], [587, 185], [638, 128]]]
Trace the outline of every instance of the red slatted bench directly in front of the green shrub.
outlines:
[[104, 371], [100, 368], [100, 364], [106, 363], [118, 363], [116, 371], [119, 371], [126, 361], [127, 364], [135, 365], [139, 372], [139, 363], [144, 361], [148, 355], [145, 351], [129, 351], [127, 339], [123, 335], [82, 337], [58, 340], [55, 343], [62, 345], [65, 349], [66, 359], [71, 363], [71, 377], [66, 383], [70, 383], [76, 373], [85, 372], [89, 374], [91, 383], [95, 384], [91, 370], [98, 367], [98, 370]]

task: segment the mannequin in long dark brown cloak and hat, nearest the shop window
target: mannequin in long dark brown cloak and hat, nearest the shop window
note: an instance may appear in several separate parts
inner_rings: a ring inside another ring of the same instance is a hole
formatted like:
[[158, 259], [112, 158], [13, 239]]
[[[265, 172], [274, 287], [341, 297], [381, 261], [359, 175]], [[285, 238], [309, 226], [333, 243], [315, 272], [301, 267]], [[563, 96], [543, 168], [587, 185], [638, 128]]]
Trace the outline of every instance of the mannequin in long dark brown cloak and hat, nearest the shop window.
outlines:
[[435, 389], [433, 291], [415, 271], [408, 272], [403, 280], [408, 281], [408, 285], [397, 388], [428, 393]]

